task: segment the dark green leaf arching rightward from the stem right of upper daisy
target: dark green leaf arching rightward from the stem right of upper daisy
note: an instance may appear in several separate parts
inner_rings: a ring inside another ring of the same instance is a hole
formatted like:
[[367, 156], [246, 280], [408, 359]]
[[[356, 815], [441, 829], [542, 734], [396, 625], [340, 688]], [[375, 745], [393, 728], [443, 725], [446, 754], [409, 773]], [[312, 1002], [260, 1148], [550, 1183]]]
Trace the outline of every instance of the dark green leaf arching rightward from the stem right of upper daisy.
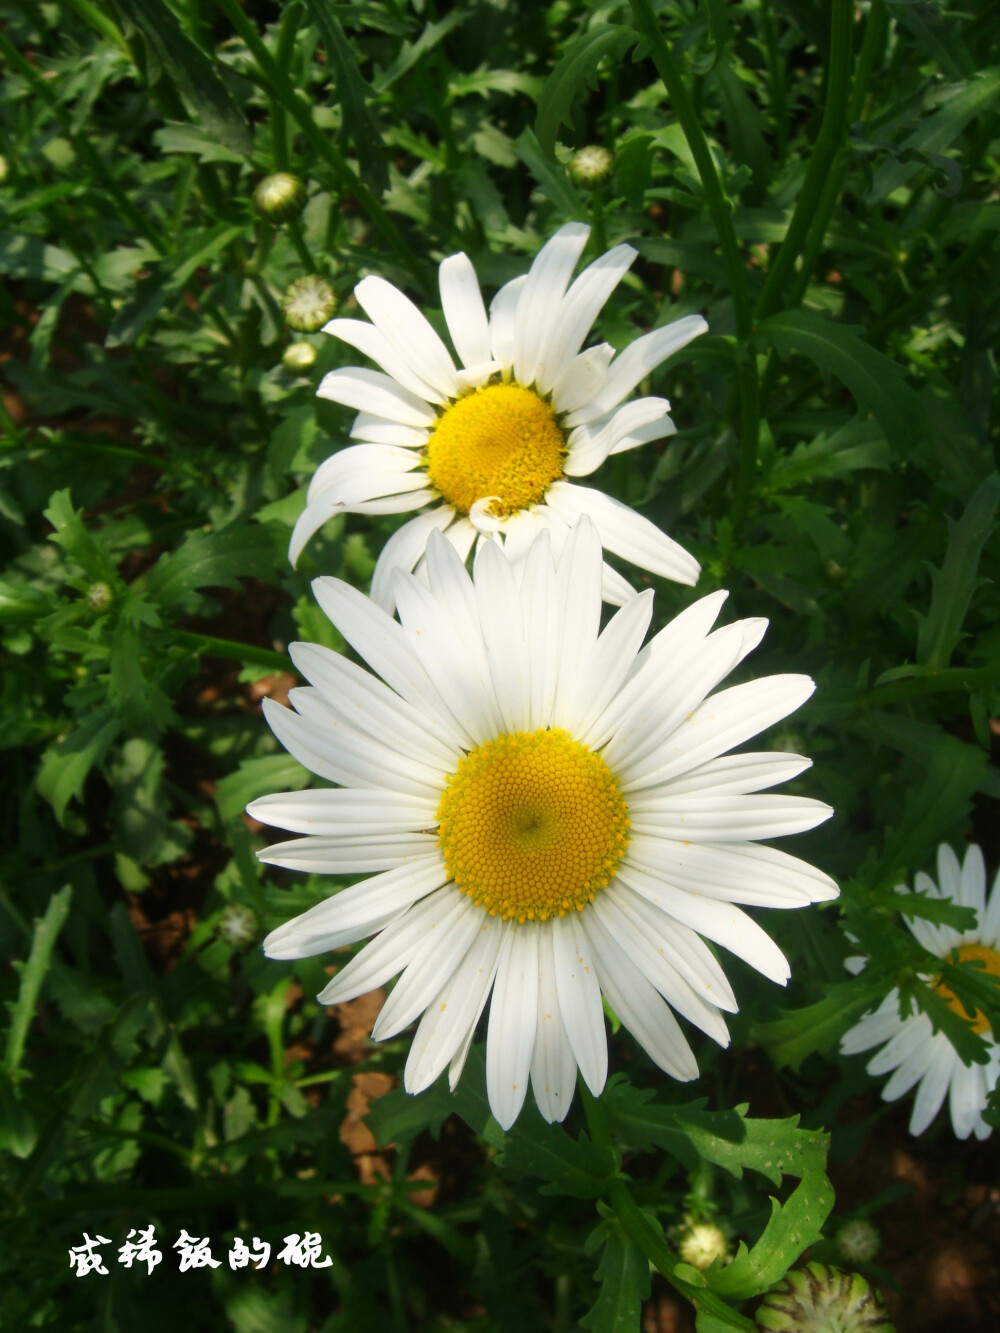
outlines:
[[895, 448], [907, 452], [924, 429], [917, 395], [905, 383], [899, 363], [876, 352], [857, 329], [837, 324], [811, 311], [783, 311], [757, 325], [779, 356], [807, 356], [836, 376], [853, 395], [859, 408], [871, 413]]

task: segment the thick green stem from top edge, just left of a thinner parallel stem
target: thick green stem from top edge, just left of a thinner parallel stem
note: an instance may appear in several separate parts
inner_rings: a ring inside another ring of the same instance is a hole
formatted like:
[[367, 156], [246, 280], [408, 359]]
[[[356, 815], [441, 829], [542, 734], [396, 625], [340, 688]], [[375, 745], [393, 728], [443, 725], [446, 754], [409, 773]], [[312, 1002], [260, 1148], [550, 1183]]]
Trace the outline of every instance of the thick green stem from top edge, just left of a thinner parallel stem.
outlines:
[[[809, 156], [805, 180], [788, 224], [785, 239], [768, 269], [764, 289], [755, 309], [757, 321], [779, 308], [781, 293], [795, 271], [795, 261], [805, 245], [831, 168], [847, 133], [847, 111], [851, 92], [851, 56], [853, 40], [853, 0], [831, 0], [829, 75], [820, 132]], [[836, 197], [836, 195], [835, 195]], [[831, 204], [832, 207], [832, 204]], [[825, 223], [824, 223], [825, 228]]]

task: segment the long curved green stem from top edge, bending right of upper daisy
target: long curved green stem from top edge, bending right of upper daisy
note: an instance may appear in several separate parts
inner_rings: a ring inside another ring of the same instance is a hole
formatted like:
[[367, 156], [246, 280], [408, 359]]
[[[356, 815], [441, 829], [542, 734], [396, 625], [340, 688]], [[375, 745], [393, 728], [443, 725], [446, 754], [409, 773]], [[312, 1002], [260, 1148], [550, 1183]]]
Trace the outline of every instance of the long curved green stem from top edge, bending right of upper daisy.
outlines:
[[[836, 0], [844, 4], [845, 0]], [[760, 441], [760, 385], [757, 383], [757, 361], [753, 352], [747, 345], [753, 332], [753, 311], [747, 283], [747, 267], [743, 263], [740, 244], [736, 239], [736, 228], [732, 219], [732, 200], [723, 189], [723, 184], [716, 171], [712, 151], [701, 131], [695, 104], [688, 95], [684, 79], [669, 47], [667, 45], [660, 25], [656, 21], [651, 0], [629, 0], [632, 17], [636, 28], [649, 39], [652, 44], [652, 57], [656, 71], [663, 79], [667, 96], [677, 116], [680, 128], [688, 141], [695, 159], [701, 188], [705, 192], [705, 203], [715, 223], [719, 245], [723, 251], [725, 276], [732, 296], [733, 319], [736, 323], [736, 336], [744, 347], [740, 349], [736, 363], [736, 383], [740, 392], [740, 464], [736, 479], [736, 495], [733, 499], [732, 521], [739, 532], [749, 511], [749, 500], [753, 491], [753, 480], [757, 471], [757, 447]]]

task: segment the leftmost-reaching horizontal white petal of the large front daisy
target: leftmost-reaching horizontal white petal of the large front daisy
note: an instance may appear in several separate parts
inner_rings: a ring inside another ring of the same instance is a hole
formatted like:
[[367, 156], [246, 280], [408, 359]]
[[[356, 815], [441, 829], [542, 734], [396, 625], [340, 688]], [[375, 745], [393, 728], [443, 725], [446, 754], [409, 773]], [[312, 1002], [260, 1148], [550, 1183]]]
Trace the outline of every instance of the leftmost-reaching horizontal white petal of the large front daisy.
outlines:
[[289, 833], [419, 833], [436, 824], [433, 797], [403, 792], [319, 788], [309, 792], [275, 792], [251, 801], [247, 813]]

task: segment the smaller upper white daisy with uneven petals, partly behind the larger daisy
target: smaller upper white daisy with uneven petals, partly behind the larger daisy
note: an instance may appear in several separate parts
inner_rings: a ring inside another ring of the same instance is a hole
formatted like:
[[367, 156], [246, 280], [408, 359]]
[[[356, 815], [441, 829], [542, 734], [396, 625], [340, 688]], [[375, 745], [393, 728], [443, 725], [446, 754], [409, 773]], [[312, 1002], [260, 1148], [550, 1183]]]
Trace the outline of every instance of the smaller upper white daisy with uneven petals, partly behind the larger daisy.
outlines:
[[[444, 531], [463, 560], [481, 535], [499, 532], [517, 560], [547, 528], [557, 556], [585, 513], [605, 551], [664, 579], [697, 581], [693, 556], [648, 519], [571, 480], [612, 453], [673, 433], [667, 399], [624, 400], [708, 327], [688, 315], [619, 356], [607, 343], [581, 352], [636, 257], [631, 245], [616, 245], [571, 283], [588, 235], [580, 223], [556, 232], [528, 273], [500, 288], [489, 315], [468, 257], [441, 263], [441, 308], [461, 368], [397, 288], [381, 277], [357, 284], [355, 296], [372, 323], [332, 320], [325, 332], [381, 371], [347, 367], [320, 384], [320, 397], [357, 411], [351, 437], [364, 443], [317, 468], [292, 533], [293, 564], [335, 513], [420, 511], [387, 541], [375, 568], [372, 597], [392, 611], [393, 567], [421, 563], [433, 531]], [[604, 596], [615, 604], [633, 596], [607, 565]]]

